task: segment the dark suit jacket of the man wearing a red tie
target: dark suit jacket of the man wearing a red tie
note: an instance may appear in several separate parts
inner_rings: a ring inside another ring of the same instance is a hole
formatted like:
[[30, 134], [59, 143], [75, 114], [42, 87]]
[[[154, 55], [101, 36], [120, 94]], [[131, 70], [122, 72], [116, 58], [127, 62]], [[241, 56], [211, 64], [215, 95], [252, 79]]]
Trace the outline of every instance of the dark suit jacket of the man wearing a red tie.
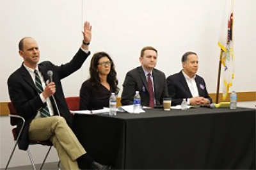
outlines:
[[[162, 105], [163, 98], [168, 97], [165, 75], [160, 70], [154, 68], [152, 76], [154, 80], [156, 105]], [[148, 93], [147, 79], [142, 66], [134, 68], [126, 74], [121, 97], [122, 105], [133, 104], [135, 91], [140, 91], [141, 105], [148, 106], [150, 97]]]

